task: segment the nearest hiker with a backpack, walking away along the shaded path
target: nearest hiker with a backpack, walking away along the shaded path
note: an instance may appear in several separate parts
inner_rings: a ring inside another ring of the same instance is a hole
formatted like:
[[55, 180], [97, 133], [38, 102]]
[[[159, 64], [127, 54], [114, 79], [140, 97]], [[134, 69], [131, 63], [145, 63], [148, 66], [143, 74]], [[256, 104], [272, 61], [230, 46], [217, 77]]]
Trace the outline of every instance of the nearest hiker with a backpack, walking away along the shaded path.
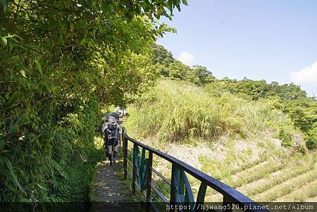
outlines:
[[119, 125], [116, 119], [110, 117], [108, 122], [103, 125], [104, 144], [106, 146], [107, 155], [110, 165], [113, 165], [113, 159], [118, 159], [118, 144], [119, 144]]

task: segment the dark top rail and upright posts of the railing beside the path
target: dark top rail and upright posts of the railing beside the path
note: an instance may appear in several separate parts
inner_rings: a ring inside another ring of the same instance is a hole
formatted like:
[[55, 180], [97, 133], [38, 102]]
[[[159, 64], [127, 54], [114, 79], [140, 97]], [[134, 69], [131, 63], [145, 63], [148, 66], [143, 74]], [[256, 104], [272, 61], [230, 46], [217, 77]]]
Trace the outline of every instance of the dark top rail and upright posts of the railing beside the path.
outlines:
[[[238, 192], [236, 189], [230, 187], [229, 185], [226, 185], [223, 182], [220, 182], [220, 180], [216, 180], [215, 178], [206, 175], [205, 173], [201, 172], [200, 170], [197, 170], [196, 168], [189, 166], [187, 163], [180, 161], [178, 158], [175, 158], [173, 156], [170, 156], [168, 154], [165, 154], [157, 149], [154, 149], [150, 146], [147, 146], [145, 144], [142, 144], [141, 142], [138, 142], [136, 139], [132, 139], [131, 137], [129, 137], [127, 135], [127, 132], [125, 130], [125, 128], [123, 127], [123, 143], [124, 143], [124, 160], [127, 160], [127, 155], [128, 155], [128, 141], [133, 143], [133, 180], [132, 180], [132, 192], [135, 192], [135, 170], [137, 170], [139, 167], [140, 168], [144, 168], [144, 166], [147, 166], [147, 179], [143, 179], [143, 180], [147, 180], [149, 182], [146, 182], [147, 184], [147, 200], [151, 199], [150, 196], [150, 192], [152, 188], [152, 184], [151, 184], [151, 171], [153, 170], [151, 167], [151, 162], [152, 162], [152, 156], [153, 154], [156, 154], [156, 156], [159, 156], [161, 158], [164, 158], [166, 161], [169, 161], [170, 163], [172, 163], [172, 180], [171, 180], [171, 185], [170, 185], [170, 205], [173, 204], [178, 204], [178, 201], [184, 201], [189, 203], [189, 201], [193, 201], [191, 200], [193, 197], [190, 197], [189, 193], [192, 192], [189, 182], [187, 180], [187, 177], [185, 175], [185, 173], [183, 171], [185, 171], [186, 173], [188, 173], [189, 175], [192, 175], [193, 177], [197, 178], [198, 180], [201, 181], [201, 187], [199, 188], [199, 199], [197, 198], [197, 202], [199, 203], [204, 203], [204, 197], [206, 194], [206, 186], [211, 187], [212, 189], [215, 189], [217, 192], [219, 192], [220, 194], [223, 194], [223, 204], [238, 204], [239, 206], [241, 206], [241, 209], [243, 211], [268, 211], [266, 210], [266, 208], [264, 208], [263, 206], [261, 206], [260, 204], [256, 203], [255, 201], [253, 201], [252, 199], [250, 199], [249, 197], [246, 197], [244, 194]], [[139, 154], [139, 149], [138, 146], [142, 148], [142, 160], [143, 161], [139, 161], [139, 164], [137, 164], [135, 162], [135, 160], [137, 160], [137, 154]], [[144, 157], [144, 151], [149, 151], [149, 159], [147, 161], [147, 159], [145, 159]], [[148, 163], [150, 161], [150, 163]], [[125, 161], [125, 169], [127, 169], [126, 166], [126, 161]], [[125, 172], [126, 173], [126, 172]], [[150, 176], [149, 176], [150, 175]], [[126, 179], [126, 175], [125, 175], [125, 179]], [[184, 187], [186, 187], [186, 192], [184, 190]], [[142, 187], [141, 187], [142, 189]], [[190, 191], [190, 192], [189, 192]], [[156, 191], [154, 191], [156, 192]], [[178, 196], [178, 192], [180, 193], [180, 198], [178, 199], [178, 201], [176, 201]], [[182, 195], [181, 195], [182, 194]], [[187, 196], [186, 196], [187, 194]], [[187, 199], [187, 201], [186, 201]], [[148, 208], [148, 207], [147, 207]], [[256, 208], [256, 209], [254, 209]], [[173, 211], [173, 210], [170, 210]], [[232, 211], [232, 210], [228, 210], [227, 211]]]

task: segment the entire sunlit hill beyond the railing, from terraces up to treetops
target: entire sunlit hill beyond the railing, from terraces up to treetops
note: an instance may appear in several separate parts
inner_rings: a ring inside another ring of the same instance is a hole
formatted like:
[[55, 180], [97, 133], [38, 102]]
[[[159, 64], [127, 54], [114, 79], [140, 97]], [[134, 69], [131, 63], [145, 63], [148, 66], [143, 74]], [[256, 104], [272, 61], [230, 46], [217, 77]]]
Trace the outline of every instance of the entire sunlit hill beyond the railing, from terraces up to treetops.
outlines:
[[[161, 79], [130, 106], [129, 133], [255, 201], [316, 199], [315, 97], [294, 84], [219, 80], [205, 67], [185, 66], [163, 46], [153, 49]], [[170, 177], [170, 163], [154, 164]], [[197, 195], [200, 182], [187, 177]], [[169, 197], [163, 180], [154, 184]], [[222, 198], [207, 189], [206, 201]]]

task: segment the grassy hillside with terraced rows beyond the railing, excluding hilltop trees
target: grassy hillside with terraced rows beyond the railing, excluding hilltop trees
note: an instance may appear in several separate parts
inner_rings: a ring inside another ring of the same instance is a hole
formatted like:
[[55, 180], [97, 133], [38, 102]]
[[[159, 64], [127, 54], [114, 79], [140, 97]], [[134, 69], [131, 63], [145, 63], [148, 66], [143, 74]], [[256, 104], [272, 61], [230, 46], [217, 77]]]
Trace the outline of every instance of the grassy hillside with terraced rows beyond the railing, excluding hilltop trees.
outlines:
[[[129, 113], [125, 125], [130, 134], [255, 201], [316, 199], [316, 151], [306, 149], [302, 132], [270, 101], [247, 101], [188, 82], [161, 80]], [[169, 164], [156, 164], [168, 173]], [[198, 182], [189, 180], [197, 192]], [[206, 198], [221, 200], [211, 190]]]

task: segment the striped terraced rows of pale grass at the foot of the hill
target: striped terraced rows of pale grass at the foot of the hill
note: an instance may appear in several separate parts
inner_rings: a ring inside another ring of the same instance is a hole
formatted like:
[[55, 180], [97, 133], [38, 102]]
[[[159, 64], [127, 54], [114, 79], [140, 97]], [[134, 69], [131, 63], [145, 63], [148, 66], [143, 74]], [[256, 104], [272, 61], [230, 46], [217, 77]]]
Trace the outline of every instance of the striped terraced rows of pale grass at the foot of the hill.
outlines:
[[[267, 159], [221, 181], [255, 201], [316, 201], [316, 156], [311, 153], [294, 161]], [[222, 201], [221, 194], [210, 193], [208, 201]]]

